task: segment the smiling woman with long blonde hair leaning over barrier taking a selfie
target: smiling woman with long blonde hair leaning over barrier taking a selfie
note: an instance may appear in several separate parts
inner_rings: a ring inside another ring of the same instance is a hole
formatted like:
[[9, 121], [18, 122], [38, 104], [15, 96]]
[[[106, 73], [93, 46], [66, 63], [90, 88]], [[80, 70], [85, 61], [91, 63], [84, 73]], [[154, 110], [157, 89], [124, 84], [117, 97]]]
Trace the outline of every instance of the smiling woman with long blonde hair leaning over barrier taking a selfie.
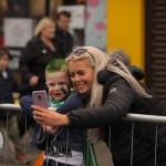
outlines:
[[[120, 58], [117, 58], [120, 55]], [[33, 106], [34, 118], [52, 126], [69, 125], [89, 129], [89, 138], [96, 141], [104, 127], [104, 141], [110, 146], [115, 166], [131, 165], [132, 123], [121, 121], [127, 113], [166, 115], [156, 95], [132, 75], [125, 53], [107, 56], [93, 46], [83, 46], [66, 59], [69, 72], [87, 108], [66, 115]], [[125, 60], [125, 61], [123, 61]], [[157, 165], [166, 165], [166, 127], [158, 125]], [[155, 125], [135, 123], [133, 165], [152, 166], [155, 152]]]

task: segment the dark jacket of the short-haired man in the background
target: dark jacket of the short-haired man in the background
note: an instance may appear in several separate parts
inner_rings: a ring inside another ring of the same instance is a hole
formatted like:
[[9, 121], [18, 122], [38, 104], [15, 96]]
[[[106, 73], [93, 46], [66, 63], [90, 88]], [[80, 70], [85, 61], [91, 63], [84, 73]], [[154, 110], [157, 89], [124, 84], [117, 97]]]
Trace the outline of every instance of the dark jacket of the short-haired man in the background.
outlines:
[[66, 56], [68, 53], [72, 51], [74, 46], [73, 37], [69, 32], [64, 34], [59, 27], [56, 27], [55, 30], [54, 42], [59, 56], [63, 59]]

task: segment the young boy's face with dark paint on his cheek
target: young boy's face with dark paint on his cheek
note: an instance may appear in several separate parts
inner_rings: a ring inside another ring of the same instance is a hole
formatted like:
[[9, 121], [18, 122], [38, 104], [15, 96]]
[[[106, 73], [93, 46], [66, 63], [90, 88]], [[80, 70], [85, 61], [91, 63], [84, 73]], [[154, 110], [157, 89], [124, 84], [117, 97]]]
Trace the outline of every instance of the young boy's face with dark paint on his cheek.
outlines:
[[70, 92], [70, 77], [68, 73], [64, 72], [53, 72], [45, 74], [46, 86], [49, 87], [50, 95], [55, 101], [61, 101], [65, 98]]

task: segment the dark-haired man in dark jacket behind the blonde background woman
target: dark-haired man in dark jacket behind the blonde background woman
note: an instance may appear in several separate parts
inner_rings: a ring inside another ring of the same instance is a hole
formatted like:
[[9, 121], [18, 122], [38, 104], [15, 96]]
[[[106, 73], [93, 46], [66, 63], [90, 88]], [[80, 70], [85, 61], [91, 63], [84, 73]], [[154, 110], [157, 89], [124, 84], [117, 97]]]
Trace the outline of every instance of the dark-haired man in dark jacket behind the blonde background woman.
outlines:
[[61, 11], [56, 14], [54, 43], [56, 45], [58, 54], [63, 59], [65, 59], [66, 54], [71, 52], [74, 46], [74, 39], [69, 32], [70, 22], [70, 12]]

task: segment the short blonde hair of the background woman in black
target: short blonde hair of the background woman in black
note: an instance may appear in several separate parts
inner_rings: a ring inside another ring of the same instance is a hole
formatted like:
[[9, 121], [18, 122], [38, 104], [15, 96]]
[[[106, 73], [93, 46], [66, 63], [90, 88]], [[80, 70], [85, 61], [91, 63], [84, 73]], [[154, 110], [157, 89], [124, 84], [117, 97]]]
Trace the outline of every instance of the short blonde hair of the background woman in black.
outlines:
[[46, 17], [42, 18], [42, 19], [38, 22], [35, 29], [34, 29], [34, 33], [33, 33], [33, 34], [34, 34], [34, 35], [39, 35], [39, 34], [42, 32], [42, 30], [43, 30], [46, 25], [50, 25], [50, 24], [55, 24], [55, 23], [54, 23], [54, 21], [51, 20], [50, 18], [46, 18]]

